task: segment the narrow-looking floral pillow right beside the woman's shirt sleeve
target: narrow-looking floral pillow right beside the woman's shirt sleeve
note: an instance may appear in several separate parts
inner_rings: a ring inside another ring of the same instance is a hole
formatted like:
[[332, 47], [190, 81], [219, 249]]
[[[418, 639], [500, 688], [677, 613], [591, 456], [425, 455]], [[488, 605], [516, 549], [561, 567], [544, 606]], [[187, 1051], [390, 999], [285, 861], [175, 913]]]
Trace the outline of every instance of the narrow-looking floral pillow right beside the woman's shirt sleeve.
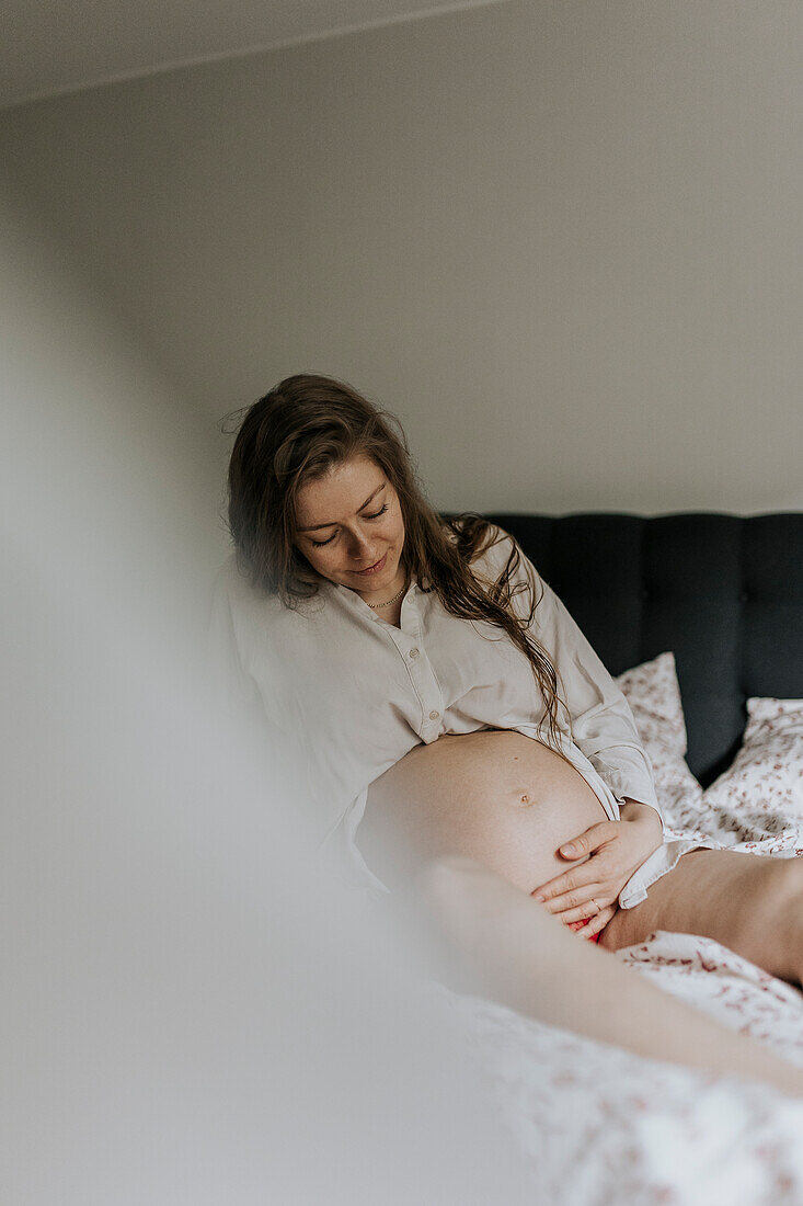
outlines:
[[674, 654], [660, 654], [615, 680], [627, 699], [655, 777], [667, 826], [699, 822], [703, 789], [686, 765], [686, 721]]

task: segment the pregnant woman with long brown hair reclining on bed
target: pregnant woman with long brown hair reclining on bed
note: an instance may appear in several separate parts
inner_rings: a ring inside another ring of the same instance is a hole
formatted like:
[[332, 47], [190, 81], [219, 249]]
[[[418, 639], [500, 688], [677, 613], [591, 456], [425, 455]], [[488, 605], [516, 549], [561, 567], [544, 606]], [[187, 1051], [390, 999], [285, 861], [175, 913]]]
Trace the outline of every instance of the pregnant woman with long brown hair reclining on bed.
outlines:
[[[663, 841], [623, 696], [511, 537], [429, 507], [392, 416], [329, 377], [281, 381], [240, 426], [229, 525], [216, 640], [298, 745], [322, 833], [365, 882], [404, 886], [440, 859], [430, 898], [498, 982], [510, 925], [514, 962], [531, 941], [586, 977], [593, 955], [599, 984], [625, 974], [628, 993], [633, 977], [569, 929], [609, 950], [705, 935], [803, 978], [803, 865]], [[668, 999], [651, 1008], [697, 1025]], [[597, 1036], [632, 1046], [626, 1015]]]

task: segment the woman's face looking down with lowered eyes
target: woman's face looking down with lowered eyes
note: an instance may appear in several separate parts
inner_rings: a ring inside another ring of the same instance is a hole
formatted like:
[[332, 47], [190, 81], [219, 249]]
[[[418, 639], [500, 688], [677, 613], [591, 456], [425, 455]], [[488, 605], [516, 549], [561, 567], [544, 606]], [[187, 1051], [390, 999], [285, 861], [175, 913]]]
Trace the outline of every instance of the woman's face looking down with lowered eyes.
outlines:
[[295, 522], [299, 550], [329, 581], [367, 598], [375, 595], [377, 601], [403, 585], [399, 496], [365, 453], [301, 486]]

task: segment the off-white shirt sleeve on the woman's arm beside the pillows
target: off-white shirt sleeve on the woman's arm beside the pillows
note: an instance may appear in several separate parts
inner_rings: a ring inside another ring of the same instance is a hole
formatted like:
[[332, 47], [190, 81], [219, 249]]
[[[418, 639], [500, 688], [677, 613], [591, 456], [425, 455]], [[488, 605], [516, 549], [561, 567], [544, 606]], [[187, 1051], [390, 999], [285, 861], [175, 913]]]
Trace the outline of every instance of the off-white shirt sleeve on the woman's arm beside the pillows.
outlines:
[[[512, 541], [512, 537], [508, 540]], [[506, 554], [510, 552], [508, 540], [504, 541]], [[538, 605], [531, 634], [544, 646], [558, 674], [558, 693], [568, 708], [572, 739], [620, 803], [629, 797], [649, 804], [663, 821], [652, 766], [627, 699], [521, 546], [520, 555], [514, 580], [526, 584], [527, 589], [514, 597], [514, 608], [517, 614], [528, 615], [532, 591], [535, 591]]]

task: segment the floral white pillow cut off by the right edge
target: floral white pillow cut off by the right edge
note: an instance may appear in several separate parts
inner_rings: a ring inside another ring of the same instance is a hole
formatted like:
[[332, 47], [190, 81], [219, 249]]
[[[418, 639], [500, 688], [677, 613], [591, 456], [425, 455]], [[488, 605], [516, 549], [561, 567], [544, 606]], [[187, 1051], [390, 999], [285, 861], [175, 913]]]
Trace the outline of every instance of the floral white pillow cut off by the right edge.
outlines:
[[703, 798], [754, 838], [803, 821], [803, 699], [748, 699], [739, 753]]

